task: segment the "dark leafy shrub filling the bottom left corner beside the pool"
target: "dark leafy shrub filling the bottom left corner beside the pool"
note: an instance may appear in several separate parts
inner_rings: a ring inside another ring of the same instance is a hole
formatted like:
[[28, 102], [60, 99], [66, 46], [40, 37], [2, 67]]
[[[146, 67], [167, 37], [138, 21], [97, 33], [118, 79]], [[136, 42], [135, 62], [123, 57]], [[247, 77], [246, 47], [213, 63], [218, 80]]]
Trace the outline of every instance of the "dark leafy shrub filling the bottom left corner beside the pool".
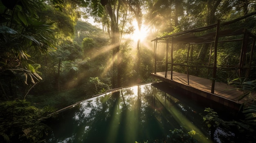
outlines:
[[26, 100], [0, 103], [0, 141], [6, 143], [41, 143], [51, 130], [43, 121], [54, 109], [38, 109]]

